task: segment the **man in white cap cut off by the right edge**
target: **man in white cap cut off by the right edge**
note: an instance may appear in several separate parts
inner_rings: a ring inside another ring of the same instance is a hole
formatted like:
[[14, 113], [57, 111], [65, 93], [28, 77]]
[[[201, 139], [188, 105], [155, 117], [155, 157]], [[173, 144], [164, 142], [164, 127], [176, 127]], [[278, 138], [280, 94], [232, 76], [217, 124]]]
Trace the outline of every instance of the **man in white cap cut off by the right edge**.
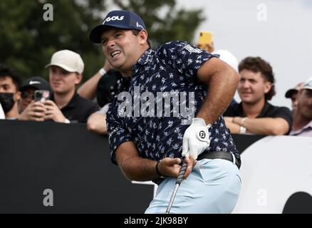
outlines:
[[293, 126], [289, 135], [312, 137], [312, 77], [298, 91], [297, 108], [293, 113]]

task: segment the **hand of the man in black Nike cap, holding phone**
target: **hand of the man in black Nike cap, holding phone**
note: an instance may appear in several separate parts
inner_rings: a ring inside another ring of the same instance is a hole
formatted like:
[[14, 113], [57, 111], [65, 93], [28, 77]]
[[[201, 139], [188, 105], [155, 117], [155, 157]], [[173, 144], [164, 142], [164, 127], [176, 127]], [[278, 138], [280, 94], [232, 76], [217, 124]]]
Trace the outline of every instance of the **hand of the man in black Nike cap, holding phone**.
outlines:
[[46, 107], [40, 101], [32, 100], [25, 110], [19, 115], [19, 120], [43, 121]]

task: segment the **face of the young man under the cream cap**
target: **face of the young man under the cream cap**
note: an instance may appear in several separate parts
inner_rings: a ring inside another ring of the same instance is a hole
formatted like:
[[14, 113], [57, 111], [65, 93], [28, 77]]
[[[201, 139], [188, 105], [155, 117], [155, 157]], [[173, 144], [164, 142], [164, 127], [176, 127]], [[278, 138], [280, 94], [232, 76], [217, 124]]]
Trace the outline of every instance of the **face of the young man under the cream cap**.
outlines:
[[49, 81], [54, 93], [66, 94], [75, 90], [81, 78], [81, 74], [65, 71], [58, 66], [49, 67]]

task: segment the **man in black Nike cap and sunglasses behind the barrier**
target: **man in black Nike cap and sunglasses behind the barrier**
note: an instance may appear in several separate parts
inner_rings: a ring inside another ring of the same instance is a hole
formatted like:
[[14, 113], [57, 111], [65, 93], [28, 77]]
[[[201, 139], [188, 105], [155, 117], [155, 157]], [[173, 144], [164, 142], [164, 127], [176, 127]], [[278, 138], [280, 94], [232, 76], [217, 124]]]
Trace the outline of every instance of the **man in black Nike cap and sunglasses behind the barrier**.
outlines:
[[36, 90], [48, 90], [51, 92], [48, 81], [45, 79], [38, 76], [28, 78], [20, 88], [21, 100], [19, 111], [21, 115], [19, 116], [19, 120], [44, 120], [44, 105], [34, 100]]

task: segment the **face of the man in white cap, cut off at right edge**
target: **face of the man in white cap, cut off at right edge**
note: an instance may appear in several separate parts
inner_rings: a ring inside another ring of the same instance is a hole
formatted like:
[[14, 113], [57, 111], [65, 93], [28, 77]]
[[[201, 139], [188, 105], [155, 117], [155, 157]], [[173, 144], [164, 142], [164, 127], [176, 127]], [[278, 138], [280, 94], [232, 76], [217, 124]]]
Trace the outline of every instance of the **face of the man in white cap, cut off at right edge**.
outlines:
[[304, 118], [312, 120], [312, 90], [300, 90], [297, 110]]

